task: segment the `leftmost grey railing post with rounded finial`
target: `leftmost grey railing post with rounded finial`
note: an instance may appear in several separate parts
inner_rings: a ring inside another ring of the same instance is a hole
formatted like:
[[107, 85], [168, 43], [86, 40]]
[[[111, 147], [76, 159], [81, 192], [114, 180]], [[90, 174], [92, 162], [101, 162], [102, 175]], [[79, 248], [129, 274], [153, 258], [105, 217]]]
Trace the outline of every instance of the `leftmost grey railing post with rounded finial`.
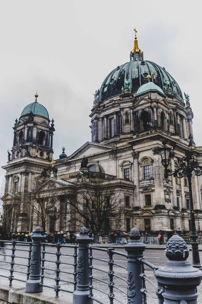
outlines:
[[43, 286], [41, 283], [41, 245], [40, 242], [43, 240], [41, 235], [40, 227], [36, 227], [34, 235], [32, 236], [32, 254], [30, 264], [30, 276], [26, 282], [25, 291], [31, 293], [42, 292]]

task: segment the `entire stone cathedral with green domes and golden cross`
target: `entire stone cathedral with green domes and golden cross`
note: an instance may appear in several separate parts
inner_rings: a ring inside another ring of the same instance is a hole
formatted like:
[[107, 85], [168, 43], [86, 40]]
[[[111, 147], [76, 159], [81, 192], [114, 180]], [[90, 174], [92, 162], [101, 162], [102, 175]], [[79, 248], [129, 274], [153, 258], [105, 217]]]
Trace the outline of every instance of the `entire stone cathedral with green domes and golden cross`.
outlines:
[[[78, 231], [83, 224], [88, 225], [87, 217], [86, 223], [78, 218], [71, 221], [72, 206], [65, 193], [74, 189], [85, 192], [83, 185], [94, 185], [95, 181], [111, 189], [121, 206], [120, 213], [111, 210], [105, 216], [100, 231], [130, 231], [132, 227], [141, 232], [190, 231], [187, 178], [167, 176], [159, 153], [165, 141], [172, 148], [172, 170], [179, 167], [187, 149], [202, 163], [202, 147], [193, 141], [189, 96], [184, 93], [183, 97], [164, 67], [144, 60], [134, 30], [130, 61], [112, 70], [95, 91], [91, 142], [70, 156], [63, 148], [59, 159], [54, 160], [54, 120], [38, 103], [37, 94], [15, 121], [13, 147], [3, 166], [6, 188], [2, 200], [5, 206], [13, 204], [10, 231], [30, 231], [40, 225], [41, 218], [33, 209], [37, 205], [33, 194], [34, 181], [41, 179], [38, 193], [43, 203], [55, 198], [44, 223], [47, 232]], [[192, 176], [192, 189], [196, 229], [201, 230], [200, 176]], [[32, 199], [30, 206], [28, 201]], [[86, 202], [85, 198], [83, 205]]]

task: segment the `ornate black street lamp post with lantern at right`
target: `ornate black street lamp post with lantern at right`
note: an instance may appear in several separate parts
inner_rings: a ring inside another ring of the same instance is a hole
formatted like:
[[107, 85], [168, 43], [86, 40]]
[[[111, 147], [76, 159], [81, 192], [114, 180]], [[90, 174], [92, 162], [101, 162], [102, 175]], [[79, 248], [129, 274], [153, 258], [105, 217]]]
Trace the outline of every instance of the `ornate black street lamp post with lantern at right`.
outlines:
[[198, 242], [197, 242], [197, 233], [195, 227], [195, 216], [193, 209], [193, 195], [192, 195], [192, 185], [191, 185], [191, 177], [192, 173], [196, 176], [202, 174], [202, 167], [199, 166], [199, 163], [195, 161], [194, 156], [192, 155], [190, 150], [185, 151], [185, 156], [181, 159], [181, 164], [178, 169], [172, 171], [168, 168], [170, 163], [170, 152], [171, 148], [166, 145], [166, 142], [163, 142], [163, 146], [159, 148], [162, 164], [165, 168], [165, 173], [168, 175], [177, 176], [178, 178], [187, 177], [189, 184], [189, 202], [190, 202], [190, 217], [191, 217], [191, 247], [192, 247], [192, 265], [193, 267], [200, 268], [200, 258], [198, 252]]

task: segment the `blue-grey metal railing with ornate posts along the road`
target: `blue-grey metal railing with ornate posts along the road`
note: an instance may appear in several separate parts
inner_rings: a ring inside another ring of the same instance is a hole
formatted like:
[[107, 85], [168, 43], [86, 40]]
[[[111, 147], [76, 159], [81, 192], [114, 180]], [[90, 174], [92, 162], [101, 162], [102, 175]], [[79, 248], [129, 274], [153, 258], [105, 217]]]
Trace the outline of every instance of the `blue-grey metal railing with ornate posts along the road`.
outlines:
[[[26, 282], [26, 292], [41, 292], [47, 287], [55, 291], [56, 297], [61, 291], [72, 293], [73, 302], [77, 304], [93, 301], [146, 304], [147, 299], [149, 303], [163, 304], [165, 298], [166, 303], [174, 303], [176, 294], [179, 301], [194, 298], [196, 303], [196, 286], [202, 272], [187, 261], [186, 243], [178, 235], [167, 243], [169, 260], [165, 267], [158, 268], [144, 259], [145, 245], [137, 229], [129, 234], [129, 243], [124, 245], [126, 252], [91, 246], [87, 233], [83, 227], [78, 245], [41, 243], [39, 227], [32, 237], [33, 242], [0, 241], [0, 259], [1, 256], [7, 258], [0, 260], [0, 277], [7, 278], [10, 286], [13, 280]], [[22, 262], [24, 260], [27, 264]]]

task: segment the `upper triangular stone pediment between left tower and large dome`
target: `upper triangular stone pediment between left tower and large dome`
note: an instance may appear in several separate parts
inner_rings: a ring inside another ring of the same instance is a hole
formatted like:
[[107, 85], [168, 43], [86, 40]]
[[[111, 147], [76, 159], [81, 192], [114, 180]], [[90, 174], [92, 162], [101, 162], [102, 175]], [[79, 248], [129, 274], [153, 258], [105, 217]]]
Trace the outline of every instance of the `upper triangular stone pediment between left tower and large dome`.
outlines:
[[84, 156], [88, 157], [90, 155], [110, 151], [112, 149], [113, 147], [111, 146], [87, 141], [84, 145], [77, 149], [67, 160], [69, 161], [77, 158], [83, 158]]

